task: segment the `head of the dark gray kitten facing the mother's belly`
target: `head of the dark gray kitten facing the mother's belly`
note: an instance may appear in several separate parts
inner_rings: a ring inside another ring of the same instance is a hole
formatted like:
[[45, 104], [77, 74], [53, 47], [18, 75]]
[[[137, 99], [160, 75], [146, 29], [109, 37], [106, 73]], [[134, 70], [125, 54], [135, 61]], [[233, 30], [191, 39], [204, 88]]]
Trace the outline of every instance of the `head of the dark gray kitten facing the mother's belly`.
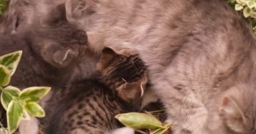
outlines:
[[64, 3], [43, 15], [28, 33], [32, 49], [58, 68], [77, 61], [88, 45], [86, 33], [67, 21]]

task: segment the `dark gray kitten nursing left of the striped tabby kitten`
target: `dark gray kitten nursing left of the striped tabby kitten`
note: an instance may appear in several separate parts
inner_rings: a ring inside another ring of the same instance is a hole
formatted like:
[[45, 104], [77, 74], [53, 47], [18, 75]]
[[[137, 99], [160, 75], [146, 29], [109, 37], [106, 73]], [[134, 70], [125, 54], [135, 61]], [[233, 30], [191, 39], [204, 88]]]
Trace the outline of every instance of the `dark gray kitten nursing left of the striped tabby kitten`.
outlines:
[[[16, 25], [20, 14], [11, 2], [1, 18], [0, 55], [19, 50], [23, 55], [10, 85], [21, 90], [31, 86], [49, 86], [54, 90], [68, 87], [72, 81], [81, 80], [93, 72], [98, 57], [88, 53], [86, 33], [67, 21], [64, 4], [53, 7], [40, 19], [35, 18], [21, 31], [19, 29], [24, 25]], [[47, 99], [47, 96], [43, 98]], [[32, 118], [32, 121], [31, 124], [21, 122], [21, 134], [38, 131], [38, 127], [33, 127], [37, 126], [37, 119]], [[28, 126], [32, 131], [22, 126]]]

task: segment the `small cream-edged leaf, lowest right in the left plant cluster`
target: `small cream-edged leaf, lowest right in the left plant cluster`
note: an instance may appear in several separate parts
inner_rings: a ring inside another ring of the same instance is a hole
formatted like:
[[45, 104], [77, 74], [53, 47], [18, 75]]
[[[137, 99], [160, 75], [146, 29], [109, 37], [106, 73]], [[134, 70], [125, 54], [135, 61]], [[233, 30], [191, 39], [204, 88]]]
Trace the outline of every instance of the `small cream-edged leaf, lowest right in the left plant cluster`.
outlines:
[[25, 108], [29, 112], [29, 114], [31, 114], [32, 116], [36, 116], [36, 117], [39, 117], [39, 118], [45, 116], [45, 111], [37, 103], [29, 102], [25, 105]]

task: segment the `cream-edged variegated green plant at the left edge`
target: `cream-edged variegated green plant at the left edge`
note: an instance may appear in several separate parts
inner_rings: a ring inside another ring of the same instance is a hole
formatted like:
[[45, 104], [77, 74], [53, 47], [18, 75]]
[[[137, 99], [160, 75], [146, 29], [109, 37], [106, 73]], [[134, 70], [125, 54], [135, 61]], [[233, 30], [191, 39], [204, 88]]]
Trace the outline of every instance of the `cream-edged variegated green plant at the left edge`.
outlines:
[[37, 102], [51, 90], [50, 87], [30, 87], [21, 91], [19, 88], [7, 86], [21, 55], [22, 51], [17, 51], [0, 57], [0, 98], [6, 110], [9, 134], [16, 131], [21, 120], [30, 120], [29, 114], [35, 117], [45, 116], [45, 111]]

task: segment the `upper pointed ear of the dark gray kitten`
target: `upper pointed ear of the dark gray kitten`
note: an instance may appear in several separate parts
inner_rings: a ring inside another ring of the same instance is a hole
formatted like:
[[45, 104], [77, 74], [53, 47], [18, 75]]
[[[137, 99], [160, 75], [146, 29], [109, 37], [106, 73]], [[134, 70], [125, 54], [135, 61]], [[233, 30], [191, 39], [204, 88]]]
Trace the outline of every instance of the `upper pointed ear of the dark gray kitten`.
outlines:
[[48, 13], [42, 16], [41, 23], [45, 26], [52, 26], [60, 20], [67, 21], [64, 3], [57, 5]]

